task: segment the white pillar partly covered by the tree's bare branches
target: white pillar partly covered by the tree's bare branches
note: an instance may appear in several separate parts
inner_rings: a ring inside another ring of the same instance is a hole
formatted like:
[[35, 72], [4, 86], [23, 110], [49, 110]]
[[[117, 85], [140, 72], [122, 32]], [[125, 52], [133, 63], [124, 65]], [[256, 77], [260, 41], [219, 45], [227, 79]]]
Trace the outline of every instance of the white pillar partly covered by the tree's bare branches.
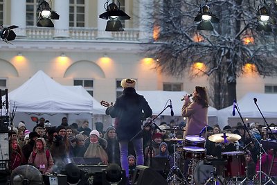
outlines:
[[152, 39], [153, 26], [150, 25], [150, 19], [148, 17], [153, 11], [152, 0], [140, 0], [139, 1], [139, 40], [148, 41]]

